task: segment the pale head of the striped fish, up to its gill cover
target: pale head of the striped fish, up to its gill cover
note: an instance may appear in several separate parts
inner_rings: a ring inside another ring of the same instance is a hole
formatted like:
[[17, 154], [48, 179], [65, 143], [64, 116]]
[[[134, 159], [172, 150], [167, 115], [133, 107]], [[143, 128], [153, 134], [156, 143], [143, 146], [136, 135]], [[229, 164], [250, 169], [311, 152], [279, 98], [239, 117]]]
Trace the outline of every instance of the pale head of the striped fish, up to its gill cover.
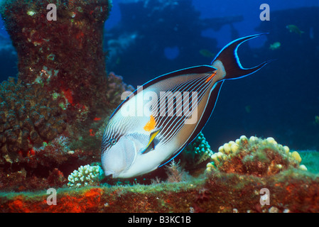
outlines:
[[109, 139], [102, 148], [102, 167], [105, 176], [122, 177], [136, 158], [136, 143], [123, 135], [119, 140]]

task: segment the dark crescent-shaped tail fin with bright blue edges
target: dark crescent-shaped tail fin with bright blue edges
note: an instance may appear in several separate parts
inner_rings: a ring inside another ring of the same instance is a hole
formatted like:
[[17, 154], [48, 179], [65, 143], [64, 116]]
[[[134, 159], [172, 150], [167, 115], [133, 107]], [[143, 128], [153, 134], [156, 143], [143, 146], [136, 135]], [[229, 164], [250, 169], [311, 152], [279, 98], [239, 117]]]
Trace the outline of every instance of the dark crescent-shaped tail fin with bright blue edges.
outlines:
[[222, 48], [222, 50], [217, 54], [214, 60], [212, 60], [212, 66], [217, 67], [217, 69], [221, 69], [224, 72], [224, 75], [220, 79], [237, 79], [241, 77], [246, 77], [249, 74], [252, 74], [264, 67], [270, 61], [262, 62], [260, 65], [256, 67], [252, 67], [249, 69], [244, 69], [242, 64], [239, 62], [239, 58], [237, 55], [237, 49], [239, 45], [244, 43], [247, 40], [252, 38], [256, 38], [260, 35], [264, 35], [267, 33], [261, 33], [257, 35], [249, 35], [243, 38], [239, 38], [237, 40], [232, 41]]

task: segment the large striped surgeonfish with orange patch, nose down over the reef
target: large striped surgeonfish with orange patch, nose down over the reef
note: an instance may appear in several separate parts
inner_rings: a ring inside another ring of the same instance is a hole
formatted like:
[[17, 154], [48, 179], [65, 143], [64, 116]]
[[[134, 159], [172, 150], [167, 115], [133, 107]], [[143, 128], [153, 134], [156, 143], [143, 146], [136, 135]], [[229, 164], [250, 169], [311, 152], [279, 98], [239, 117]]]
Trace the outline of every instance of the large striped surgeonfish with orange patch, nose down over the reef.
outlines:
[[237, 56], [240, 44], [259, 35], [232, 41], [211, 65], [163, 74], [127, 96], [104, 131], [104, 174], [113, 178], [143, 175], [178, 155], [202, 131], [225, 80], [246, 77], [268, 63], [244, 69]]

